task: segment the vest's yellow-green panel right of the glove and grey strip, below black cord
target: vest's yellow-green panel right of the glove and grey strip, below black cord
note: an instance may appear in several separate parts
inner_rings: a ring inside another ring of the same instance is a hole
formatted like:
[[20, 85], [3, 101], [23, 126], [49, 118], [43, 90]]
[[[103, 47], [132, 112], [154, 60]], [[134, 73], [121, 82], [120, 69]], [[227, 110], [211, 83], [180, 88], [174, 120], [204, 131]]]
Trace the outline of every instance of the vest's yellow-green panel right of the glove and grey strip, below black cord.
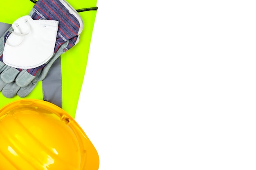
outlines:
[[[95, 4], [90, 7], [96, 7], [96, 1], [94, 2]], [[85, 75], [96, 12], [85, 11], [79, 13], [84, 22], [81, 39], [76, 46], [70, 49], [69, 52], [72, 53], [72, 57], [69, 56], [70, 53], [64, 53], [61, 56], [63, 110], [67, 113], [75, 113], [76, 111], [83, 77]], [[70, 71], [70, 67], [74, 69]]]

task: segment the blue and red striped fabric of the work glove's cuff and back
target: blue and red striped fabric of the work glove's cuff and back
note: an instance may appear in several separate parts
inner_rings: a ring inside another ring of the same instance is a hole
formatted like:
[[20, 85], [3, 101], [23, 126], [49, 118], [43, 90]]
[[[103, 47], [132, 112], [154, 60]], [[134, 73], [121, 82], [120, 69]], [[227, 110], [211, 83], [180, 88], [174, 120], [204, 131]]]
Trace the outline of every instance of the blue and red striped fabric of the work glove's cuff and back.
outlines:
[[[56, 53], [59, 47], [66, 41], [69, 41], [69, 44], [63, 53], [76, 44], [80, 29], [79, 20], [74, 15], [70, 14], [70, 11], [68, 11], [59, 0], [38, 0], [32, 10], [34, 11], [31, 15], [33, 20], [46, 19], [59, 21], [54, 53]], [[43, 64], [36, 68], [27, 69], [27, 72], [31, 75], [36, 75], [36, 73], [45, 66], [46, 64]], [[21, 71], [21, 69], [18, 69], [18, 71]]]

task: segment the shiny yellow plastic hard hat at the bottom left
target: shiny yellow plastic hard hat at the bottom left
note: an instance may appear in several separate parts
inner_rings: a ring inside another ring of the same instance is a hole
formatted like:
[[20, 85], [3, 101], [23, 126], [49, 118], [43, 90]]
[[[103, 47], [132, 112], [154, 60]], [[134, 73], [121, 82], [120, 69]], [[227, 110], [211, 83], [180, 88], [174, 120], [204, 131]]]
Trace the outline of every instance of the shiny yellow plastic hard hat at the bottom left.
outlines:
[[63, 109], [22, 99], [0, 109], [0, 170], [98, 170], [99, 156]]

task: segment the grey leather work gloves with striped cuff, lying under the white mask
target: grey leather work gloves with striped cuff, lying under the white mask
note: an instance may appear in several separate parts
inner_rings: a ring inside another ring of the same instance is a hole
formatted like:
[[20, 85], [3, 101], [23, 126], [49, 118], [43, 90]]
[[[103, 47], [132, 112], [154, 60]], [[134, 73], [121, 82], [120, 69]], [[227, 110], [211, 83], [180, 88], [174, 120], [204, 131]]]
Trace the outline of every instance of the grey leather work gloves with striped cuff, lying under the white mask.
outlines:
[[[79, 42], [83, 30], [82, 18], [65, 0], [38, 0], [29, 16], [33, 20], [58, 21], [54, 52], [45, 64], [36, 68], [22, 69], [7, 66], [3, 62], [3, 51], [6, 41], [13, 33], [11, 26], [0, 38], [0, 91], [7, 98], [16, 94], [19, 97], [29, 95], [37, 82], [45, 79], [55, 60]], [[35, 53], [34, 56], [36, 57], [37, 54]]]

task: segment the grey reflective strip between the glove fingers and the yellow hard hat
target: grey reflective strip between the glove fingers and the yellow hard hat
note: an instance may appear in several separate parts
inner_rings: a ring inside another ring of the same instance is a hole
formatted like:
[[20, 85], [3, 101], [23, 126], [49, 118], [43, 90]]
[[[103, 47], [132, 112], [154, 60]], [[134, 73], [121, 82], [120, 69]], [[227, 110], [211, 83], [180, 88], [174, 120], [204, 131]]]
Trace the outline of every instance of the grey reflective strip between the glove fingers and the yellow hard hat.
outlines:
[[44, 100], [62, 108], [61, 57], [52, 64], [42, 87]]

